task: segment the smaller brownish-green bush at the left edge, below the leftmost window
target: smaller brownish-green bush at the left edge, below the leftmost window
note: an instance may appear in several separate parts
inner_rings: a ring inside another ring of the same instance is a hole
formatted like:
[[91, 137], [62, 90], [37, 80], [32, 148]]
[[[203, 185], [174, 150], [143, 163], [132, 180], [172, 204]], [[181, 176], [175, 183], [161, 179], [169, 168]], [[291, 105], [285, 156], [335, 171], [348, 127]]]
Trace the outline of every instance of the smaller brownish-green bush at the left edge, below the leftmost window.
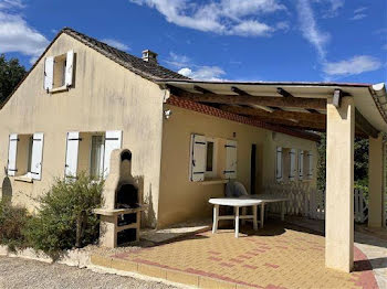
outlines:
[[7, 199], [0, 201], [0, 243], [9, 249], [25, 247], [23, 229], [28, 220], [24, 207], [12, 206]]

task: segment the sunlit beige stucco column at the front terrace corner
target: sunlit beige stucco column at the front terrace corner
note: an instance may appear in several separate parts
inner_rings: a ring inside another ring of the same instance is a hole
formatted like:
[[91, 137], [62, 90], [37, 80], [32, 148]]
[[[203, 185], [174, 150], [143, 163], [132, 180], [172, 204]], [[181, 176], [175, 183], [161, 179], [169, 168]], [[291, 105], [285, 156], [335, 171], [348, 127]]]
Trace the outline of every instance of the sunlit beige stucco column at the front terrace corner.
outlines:
[[[337, 104], [336, 104], [337, 106]], [[355, 104], [327, 100], [325, 265], [349, 272], [354, 265]]]

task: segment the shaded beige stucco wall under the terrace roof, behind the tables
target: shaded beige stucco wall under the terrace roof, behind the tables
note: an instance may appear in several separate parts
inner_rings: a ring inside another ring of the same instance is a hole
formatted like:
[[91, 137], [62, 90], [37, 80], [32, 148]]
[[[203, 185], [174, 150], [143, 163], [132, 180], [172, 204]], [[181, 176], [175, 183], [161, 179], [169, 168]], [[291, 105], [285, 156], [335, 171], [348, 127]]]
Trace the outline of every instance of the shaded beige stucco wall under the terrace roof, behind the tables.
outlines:
[[[257, 143], [258, 186], [274, 181], [276, 147], [310, 150], [317, 156], [316, 143], [231, 120], [165, 105], [172, 115], [164, 120], [161, 179], [158, 226], [211, 216], [210, 197], [222, 196], [224, 184], [189, 181], [191, 133], [238, 141], [238, 180], [250, 191], [251, 144]], [[236, 132], [236, 138], [233, 138]], [[315, 159], [315, 165], [316, 165]], [[316, 172], [316, 170], [315, 170]], [[308, 182], [316, 185], [316, 173]], [[260, 190], [258, 190], [259, 193]]]

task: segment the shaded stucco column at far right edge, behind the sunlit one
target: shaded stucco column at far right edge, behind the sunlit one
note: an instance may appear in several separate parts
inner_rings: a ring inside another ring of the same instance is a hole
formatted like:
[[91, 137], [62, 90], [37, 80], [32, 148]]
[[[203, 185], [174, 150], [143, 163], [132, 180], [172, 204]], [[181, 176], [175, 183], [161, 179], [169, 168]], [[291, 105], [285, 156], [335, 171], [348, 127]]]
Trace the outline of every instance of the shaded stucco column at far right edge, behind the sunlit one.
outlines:
[[368, 162], [368, 226], [383, 226], [383, 136], [369, 137], [369, 162]]

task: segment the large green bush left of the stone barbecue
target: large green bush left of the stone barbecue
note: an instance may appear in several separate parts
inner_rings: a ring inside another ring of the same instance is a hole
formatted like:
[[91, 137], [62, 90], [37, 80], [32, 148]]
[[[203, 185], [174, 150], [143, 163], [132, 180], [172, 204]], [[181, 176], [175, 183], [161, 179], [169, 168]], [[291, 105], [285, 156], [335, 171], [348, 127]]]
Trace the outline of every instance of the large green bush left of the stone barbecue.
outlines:
[[103, 185], [84, 173], [74, 181], [56, 179], [29, 221], [25, 235], [31, 246], [56, 258], [64, 249], [94, 243], [100, 220], [93, 210], [101, 205]]

